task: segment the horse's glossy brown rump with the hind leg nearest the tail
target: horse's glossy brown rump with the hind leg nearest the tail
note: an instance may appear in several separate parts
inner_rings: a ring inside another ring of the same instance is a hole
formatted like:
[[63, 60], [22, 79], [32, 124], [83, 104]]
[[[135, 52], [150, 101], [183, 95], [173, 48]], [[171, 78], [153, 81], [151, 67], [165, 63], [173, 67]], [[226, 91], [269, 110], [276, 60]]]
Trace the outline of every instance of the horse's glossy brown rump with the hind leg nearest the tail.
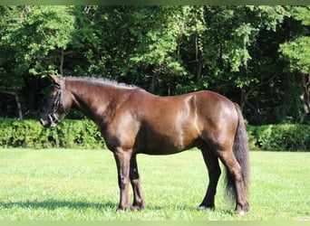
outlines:
[[[227, 168], [228, 191], [236, 194], [235, 212], [246, 212], [249, 209], [248, 147], [241, 110], [237, 104], [218, 94], [212, 95], [212, 98], [205, 97], [199, 98], [196, 103], [199, 107], [198, 127], [202, 127], [200, 136]], [[206, 104], [203, 105], [203, 102]]]

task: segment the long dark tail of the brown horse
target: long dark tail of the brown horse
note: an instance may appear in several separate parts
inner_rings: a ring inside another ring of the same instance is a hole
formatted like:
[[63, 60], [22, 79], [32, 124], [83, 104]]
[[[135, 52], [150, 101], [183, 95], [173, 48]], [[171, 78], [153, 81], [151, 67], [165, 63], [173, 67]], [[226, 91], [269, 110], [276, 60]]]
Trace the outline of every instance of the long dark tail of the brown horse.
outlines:
[[[247, 128], [244, 123], [241, 108], [235, 104], [237, 110], [237, 130], [235, 134], [235, 141], [233, 145], [233, 153], [237, 159], [237, 163], [241, 167], [241, 175], [244, 183], [244, 187], [247, 193], [248, 179], [249, 179], [249, 159], [248, 159], [248, 144], [247, 144]], [[236, 195], [236, 184], [233, 176], [226, 170], [226, 189], [229, 198], [233, 198]]]

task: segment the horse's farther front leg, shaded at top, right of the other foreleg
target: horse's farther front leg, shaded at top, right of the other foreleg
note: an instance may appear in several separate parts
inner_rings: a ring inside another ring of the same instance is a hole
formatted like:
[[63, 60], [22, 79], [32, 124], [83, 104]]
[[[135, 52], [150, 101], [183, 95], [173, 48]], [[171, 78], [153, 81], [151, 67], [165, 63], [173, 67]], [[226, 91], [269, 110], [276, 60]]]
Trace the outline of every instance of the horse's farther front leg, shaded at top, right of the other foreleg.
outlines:
[[130, 179], [133, 191], [133, 207], [138, 210], [143, 210], [146, 207], [146, 203], [142, 195], [136, 155], [131, 156]]

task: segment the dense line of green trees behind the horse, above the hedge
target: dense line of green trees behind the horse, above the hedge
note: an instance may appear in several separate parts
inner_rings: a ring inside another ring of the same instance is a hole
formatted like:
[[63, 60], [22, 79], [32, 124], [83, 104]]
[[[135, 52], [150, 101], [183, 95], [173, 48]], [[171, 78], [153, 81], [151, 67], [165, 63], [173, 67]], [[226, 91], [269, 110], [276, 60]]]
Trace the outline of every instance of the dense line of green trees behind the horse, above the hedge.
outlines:
[[251, 124], [308, 123], [309, 26], [309, 6], [0, 6], [0, 91], [34, 118], [47, 73], [96, 76], [214, 90]]

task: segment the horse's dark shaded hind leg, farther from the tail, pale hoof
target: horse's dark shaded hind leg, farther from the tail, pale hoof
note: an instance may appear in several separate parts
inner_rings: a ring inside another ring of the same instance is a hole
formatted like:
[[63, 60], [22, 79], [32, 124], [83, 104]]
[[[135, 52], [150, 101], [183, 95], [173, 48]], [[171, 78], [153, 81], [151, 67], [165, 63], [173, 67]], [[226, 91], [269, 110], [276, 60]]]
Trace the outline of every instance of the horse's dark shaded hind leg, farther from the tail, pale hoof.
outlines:
[[221, 174], [220, 167], [218, 165], [218, 156], [215, 155], [207, 145], [201, 148], [203, 159], [208, 168], [208, 189], [205, 198], [199, 205], [199, 210], [215, 210], [215, 195], [217, 193], [218, 178]]

